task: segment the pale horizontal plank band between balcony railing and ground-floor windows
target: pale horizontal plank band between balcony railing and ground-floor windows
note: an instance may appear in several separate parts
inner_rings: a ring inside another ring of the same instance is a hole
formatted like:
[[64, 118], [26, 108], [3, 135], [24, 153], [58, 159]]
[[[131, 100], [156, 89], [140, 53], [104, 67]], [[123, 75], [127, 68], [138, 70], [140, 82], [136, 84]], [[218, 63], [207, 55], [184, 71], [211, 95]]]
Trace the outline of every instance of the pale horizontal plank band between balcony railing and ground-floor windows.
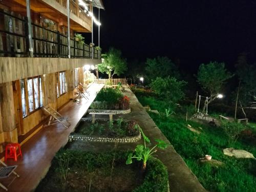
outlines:
[[0, 57], [0, 83], [73, 70], [84, 65], [97, 65], [100, 62], [101, 59]]

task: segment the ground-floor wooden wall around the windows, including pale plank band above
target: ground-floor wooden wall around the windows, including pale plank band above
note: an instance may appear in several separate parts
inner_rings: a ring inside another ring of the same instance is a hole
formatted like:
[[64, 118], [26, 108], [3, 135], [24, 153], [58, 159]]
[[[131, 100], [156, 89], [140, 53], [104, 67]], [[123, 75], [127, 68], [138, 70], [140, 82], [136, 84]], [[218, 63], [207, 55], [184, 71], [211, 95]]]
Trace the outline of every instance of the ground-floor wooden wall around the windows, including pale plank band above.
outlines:
[[[85, 64], [92, 65], [92, 63], [97, 63], [98, 60], [52, 59], [0, 57], [0, 68], [4, 69], [0, 74], [0, 80], [16, 80], [16, 78], [22, 79], [42, 75], [44, 106], [50, 105], [57, 110], [74, 98], [74, 69], [79, 67], [79, 82], [83, 82], [82, 67]], [[66, 72], [67, 93], [56, 98], [56, 72], [60, 71]], [[15, 89], [12, 81], [0, 83], [0, 153], [3, 152], [7, 142], [17, 142], [18, 135], [26, 135], [31, 130], [35, 130], [35, 127], [41, 127], [41, 123], [49, 117], [49, 114], [45, 113], [44, 109], [41, 108], [22, 118], [23, 127], [20, 128], [16, 114], [16, 111], [20, 110], [20, 106], [18, 106], [19, 103], [16, 103], [17, 99], [15, 99], [13, 90]]]

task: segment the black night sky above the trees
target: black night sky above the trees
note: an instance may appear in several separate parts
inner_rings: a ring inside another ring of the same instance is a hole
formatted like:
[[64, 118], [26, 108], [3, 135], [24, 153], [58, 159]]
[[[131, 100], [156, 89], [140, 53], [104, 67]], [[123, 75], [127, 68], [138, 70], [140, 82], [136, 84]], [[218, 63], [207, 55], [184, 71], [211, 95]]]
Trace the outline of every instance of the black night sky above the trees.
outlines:
[[[181, 68], [224, 61], [241, 52], [256, 61], [255, 0], [103, 0], [100, 47], [113, 46], [128, 60], [168, 56]], [[97, 17], [98, 11], [94, 14]], [[97, 28], [94, 41], [98, 42]]]

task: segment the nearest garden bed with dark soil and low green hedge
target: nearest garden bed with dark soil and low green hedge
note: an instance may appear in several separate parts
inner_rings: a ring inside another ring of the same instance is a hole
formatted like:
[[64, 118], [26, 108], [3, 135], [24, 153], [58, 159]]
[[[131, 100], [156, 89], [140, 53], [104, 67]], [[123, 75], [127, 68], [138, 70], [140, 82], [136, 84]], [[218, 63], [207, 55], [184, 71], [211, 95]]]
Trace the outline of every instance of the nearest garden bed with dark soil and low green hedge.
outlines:
[[156, 158], [125, 165], [128, 152], [60, 150], [35, 191], [168, 191], [167, 169]]

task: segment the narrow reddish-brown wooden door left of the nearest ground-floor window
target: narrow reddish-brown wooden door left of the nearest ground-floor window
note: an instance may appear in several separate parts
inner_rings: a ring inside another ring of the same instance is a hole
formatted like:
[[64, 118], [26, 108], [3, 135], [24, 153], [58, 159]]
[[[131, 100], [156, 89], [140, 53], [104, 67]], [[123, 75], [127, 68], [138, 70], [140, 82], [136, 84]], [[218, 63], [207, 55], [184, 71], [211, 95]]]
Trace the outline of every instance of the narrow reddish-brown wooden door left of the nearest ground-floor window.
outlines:
[[12, 81], [12, 89], [13, 89], [16, 128], [17, 128], [18, 136], [20, 136], [20, 135], [24, 135], [24, 127], [23, 127], [23, 114], [22, 114], [22, 95], [20, 92], [19, 80]]

